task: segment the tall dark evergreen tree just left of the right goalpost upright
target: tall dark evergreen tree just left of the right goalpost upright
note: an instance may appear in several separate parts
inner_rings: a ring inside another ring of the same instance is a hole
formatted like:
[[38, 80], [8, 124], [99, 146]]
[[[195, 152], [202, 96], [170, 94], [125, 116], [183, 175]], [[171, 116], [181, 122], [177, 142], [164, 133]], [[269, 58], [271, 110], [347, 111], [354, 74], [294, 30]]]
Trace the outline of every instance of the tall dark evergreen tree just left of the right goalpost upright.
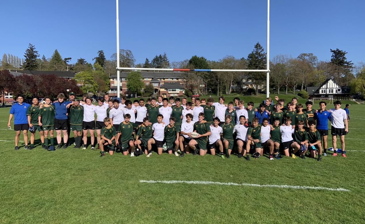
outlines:
[[[260, 43], [256, 43], [253, 51], [247, 56], [247, 69], [266, 69], [266, 53]], [[248, 72], [247, 76], [256, 85], [258, 95], [258, 85], [264, 84], [266, 80], [265, 72]]]

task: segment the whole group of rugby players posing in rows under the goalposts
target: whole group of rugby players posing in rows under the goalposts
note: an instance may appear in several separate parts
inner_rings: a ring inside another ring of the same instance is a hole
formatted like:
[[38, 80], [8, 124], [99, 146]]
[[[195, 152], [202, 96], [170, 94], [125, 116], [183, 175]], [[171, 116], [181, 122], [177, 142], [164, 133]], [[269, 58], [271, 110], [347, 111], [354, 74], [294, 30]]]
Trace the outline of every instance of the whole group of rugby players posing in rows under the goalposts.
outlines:
[[[97, 100], [84, 96], [75, 99], [74, 93], [65, 101], [64, 94], [58, 101], [45, 98], [44, 104], [34, 97], [32, 105], [18, 103], [10, 110], [8, 127], [14, 115], [15, 150], [18, 150], [20, 131], [23, 131], [26, 149], [34, 148], [35, 133], [38, 130], [42, 147], [55, 150], [53, 130], [57, 132], [57, 148], [61, 146], [61, 132], [64, 135], [63, 148], [68, 146], [68, 129], [74, 135], [74, 148], [86, 149], [88, 133], [91, 136], [91, 149], [95, 149], [95, 134], [101, 156], [121, 151], [131, 157], [142, 155], [150, 157], [153, 149], [160, 155], [163, 151], [183, 157], [185, 153], [204, 156], [208, 151], [221, 158], [229, 158], [237, 150], [238, 158], [250, 160], [250, 153], [260, 157], [264, 151], [269, 159], [279, 158], [280, 153], [287, 157], [322, 160], [327, 152], [328, 120], [331, 121], [333, 148], [337, 148], [337, 135], [341, 140], [341, 154], [345, 155], [344, 135], [348, 132], [349, 117], [341, 109], [341, 102], [334, 102], [334, 109], [326, 109], [326, 102], [319, 103], [320, 109], [312, 109], [312, 102], [297, 104], [297, 98], [284, 106], [284, 100], [275, 97], [273, 104], [267, 98], [259, 107], [238, 97], [234, 102], [224, 103], [213, 98], [149, 98], [146, 100], [126, 100], [125, 97], [111, 100], [108, 94]], [[346, 105], [347, 106], [347, 105]], [[25, 112], [26, 111], [26, 112]], [[348, 110], [347, 110], [348, 111]], [[25, 114], [25, 116], [24, 116]], [[95, 118], [96, 114], [96, 118]], [[24, 122], [26, 119], [27, 122]], [[27, 131], [31, 132], [31, 146], [28, 147]], [[194, 133], [195, 132], [195, 133]], [[50, 146], [48, 137], [50, 136]], [[82, 142], [81, 142], [82, 141]], [[180, 152], [180, 155], [178, 154]], [[333, 156], [337, 155], [334, 151]]]

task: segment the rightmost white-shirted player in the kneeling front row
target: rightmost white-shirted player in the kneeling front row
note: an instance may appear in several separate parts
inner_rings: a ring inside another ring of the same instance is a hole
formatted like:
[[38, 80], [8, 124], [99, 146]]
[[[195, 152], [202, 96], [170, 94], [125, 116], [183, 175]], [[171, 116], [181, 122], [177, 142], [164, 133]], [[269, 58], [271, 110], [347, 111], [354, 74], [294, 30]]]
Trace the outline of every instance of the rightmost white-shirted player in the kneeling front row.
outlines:
[[285, 117], [285, 125], [280, 126], [280, 132], [281, 132], [281, 144], [284, 149], [285, 156], [289, 156], [289, 148], [293, 148], [292, 152], [292, 158], [295, 159], [295, 153], [299, 150], [300, 146], [298, 143], [296, 143], [292, 137], [292, 134], [294, 133], [294, 128], [291, 125], [292, 118], [291, 117]]

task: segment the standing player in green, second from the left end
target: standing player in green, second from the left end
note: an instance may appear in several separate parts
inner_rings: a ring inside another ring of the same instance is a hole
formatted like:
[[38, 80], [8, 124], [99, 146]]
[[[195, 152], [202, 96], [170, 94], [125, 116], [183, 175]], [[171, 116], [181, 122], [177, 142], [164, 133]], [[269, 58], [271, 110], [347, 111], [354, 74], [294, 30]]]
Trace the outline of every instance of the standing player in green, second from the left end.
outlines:
[[39, 114], [39, 101], [37, 97], [33, 97], [32, 105], [27, 109], [27, 116], [28, 116], [28, 125], [29, 127], [34, 127], [34, 131], [30, 132], [30, 147], [29, 149], [32, 150], [34, 148], [34, 139], [35, 139], [35, 132], [39, 131], [39, 136], [42, 142], [42, 148], [45, 147], [45, 137], [43, 135], [43, 128], [42, 126], [38, 125], [38, 114]]

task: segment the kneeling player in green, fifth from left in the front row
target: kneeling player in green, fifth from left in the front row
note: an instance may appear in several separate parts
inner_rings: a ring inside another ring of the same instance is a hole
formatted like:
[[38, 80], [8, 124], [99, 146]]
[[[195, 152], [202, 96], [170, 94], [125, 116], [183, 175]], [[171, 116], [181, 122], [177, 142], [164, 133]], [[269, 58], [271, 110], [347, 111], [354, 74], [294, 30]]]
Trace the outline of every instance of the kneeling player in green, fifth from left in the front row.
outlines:
[[169, 154], [172, 154], [172, 148], [174, 148], [174, 154], [178, 156], [177, 150], [179, 147], [180, 125], [175, 125], [176, 121], [175, 117], [170, 117], [169, 121], [170, 124], [165, 126], [165, 131], [164, 131], [167, 151], [169, 152]]

